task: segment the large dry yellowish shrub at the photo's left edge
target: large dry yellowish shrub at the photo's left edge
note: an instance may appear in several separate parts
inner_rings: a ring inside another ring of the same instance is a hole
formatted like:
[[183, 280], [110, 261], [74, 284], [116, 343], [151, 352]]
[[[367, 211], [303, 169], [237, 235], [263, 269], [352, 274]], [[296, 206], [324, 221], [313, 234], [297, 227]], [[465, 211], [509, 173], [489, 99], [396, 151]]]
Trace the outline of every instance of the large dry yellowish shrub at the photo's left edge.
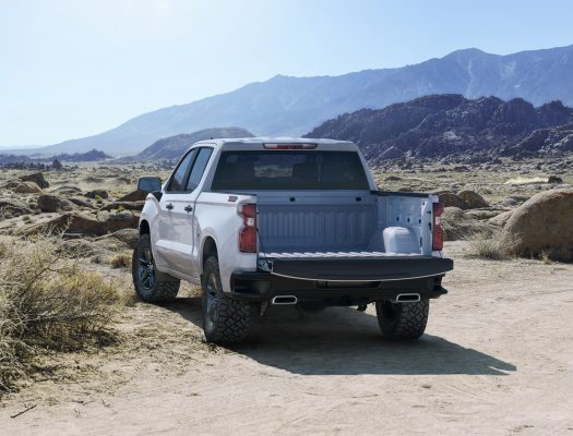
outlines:
[[63, 258], [57, 238], [0, 239], [0, 390], [40, 350], [71, 351], [112, 338], [121, 293], [100, 274]]

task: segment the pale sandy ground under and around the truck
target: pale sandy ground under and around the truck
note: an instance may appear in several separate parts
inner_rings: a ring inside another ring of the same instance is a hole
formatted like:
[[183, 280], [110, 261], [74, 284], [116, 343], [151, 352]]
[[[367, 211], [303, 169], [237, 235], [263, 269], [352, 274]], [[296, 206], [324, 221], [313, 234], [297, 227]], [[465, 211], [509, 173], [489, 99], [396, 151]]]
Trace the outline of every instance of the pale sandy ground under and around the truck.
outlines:
[[196, 298], [127, 307], [123, 343], [4, 397], [0, 434], [573, 435], [573, 266], [466, 249], [410, 343], [371, 306], [273, 308], [232, 350], [202, 342]]

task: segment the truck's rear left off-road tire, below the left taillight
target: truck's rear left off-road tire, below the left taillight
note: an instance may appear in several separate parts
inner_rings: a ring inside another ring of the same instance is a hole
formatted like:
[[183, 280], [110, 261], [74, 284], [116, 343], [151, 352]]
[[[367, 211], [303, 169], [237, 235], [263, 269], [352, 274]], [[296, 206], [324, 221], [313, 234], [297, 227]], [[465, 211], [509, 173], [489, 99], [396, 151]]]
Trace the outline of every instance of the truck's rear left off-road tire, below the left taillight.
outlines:
[[214, 343], [241, 342], [249, 332], [251, 307], [223, 292], [216, 256], [205, 261], [201, 284], [205, 339]]

